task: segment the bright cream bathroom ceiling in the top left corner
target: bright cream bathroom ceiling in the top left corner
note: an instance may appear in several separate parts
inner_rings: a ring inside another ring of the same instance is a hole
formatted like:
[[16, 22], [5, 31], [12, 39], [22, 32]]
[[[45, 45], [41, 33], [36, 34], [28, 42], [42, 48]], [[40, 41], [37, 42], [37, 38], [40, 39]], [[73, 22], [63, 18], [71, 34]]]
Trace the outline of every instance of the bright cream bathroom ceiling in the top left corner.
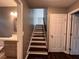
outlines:
[[0, 0], [0, 7], [17, 6], [14, 0]]

